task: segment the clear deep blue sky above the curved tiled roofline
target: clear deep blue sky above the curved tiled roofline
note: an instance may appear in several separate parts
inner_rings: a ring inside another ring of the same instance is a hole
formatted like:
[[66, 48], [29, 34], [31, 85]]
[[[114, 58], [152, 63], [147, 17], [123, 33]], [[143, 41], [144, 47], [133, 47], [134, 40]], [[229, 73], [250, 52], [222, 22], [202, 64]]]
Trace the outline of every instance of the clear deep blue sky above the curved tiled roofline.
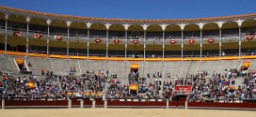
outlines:
[[256, 13], [256, 0], [0, 0], [0, 6], [119, 19], [188, 19]]

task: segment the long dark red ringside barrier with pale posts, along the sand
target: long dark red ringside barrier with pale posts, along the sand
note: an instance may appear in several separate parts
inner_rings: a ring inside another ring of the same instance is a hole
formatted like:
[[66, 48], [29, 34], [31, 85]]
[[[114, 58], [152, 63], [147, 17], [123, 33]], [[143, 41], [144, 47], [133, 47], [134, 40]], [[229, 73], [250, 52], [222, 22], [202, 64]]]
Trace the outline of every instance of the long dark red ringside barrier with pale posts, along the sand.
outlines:
[[[4, 103], [3, 103], [4, 102]], [[255, 103], [220, 103], [220, 102], [186, 102], [186, 101], [152, 101], [144, 100], [103, 100], [97, 99], [44, 99], [17, 100], [2, 99], [1, 108], [162, 108], [162, 109], [225, 109], [256, 110]]]

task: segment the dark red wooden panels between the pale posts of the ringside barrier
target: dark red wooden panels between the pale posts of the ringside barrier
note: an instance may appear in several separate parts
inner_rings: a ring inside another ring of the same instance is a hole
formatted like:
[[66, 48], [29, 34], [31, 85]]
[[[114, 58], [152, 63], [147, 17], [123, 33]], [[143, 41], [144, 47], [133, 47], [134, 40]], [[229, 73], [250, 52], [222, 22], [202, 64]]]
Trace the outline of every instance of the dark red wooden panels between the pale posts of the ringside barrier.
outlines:
[[[68, 107], [68, 100], [5, 100], [6, 107]], [[102, 99], [95, 99], [96, 106], [103, 106]], [[170, 107], [184, 107], [184, 101], [169, 101]], [[2, 100], [0, 101], [2, 104]], [[84, 105], [91, 106], [89, 99], [84, 99]], [[72, 99], [73, 106], [80, 106], [80, 100]], [[157, 107], [166, 108], [166, 101], [119, 101], [108, 100], [108, 107]], [[256, 109], [255, 103], [216, 103], [216, 102], [188, 102], [188, 108], [199, 109]]]

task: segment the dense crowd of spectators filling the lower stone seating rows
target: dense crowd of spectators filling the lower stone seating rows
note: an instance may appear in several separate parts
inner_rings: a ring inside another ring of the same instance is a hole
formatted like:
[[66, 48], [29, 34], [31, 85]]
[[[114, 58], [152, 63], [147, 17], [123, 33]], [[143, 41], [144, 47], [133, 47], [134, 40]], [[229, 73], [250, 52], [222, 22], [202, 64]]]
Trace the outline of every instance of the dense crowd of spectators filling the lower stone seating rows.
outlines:
[[[74, 72], [74, 69], [72, 70]], [[256, 98], [256, 71], [240, 72], [236, 69], [225, 70], [224, 74], [208, 74], [199, 71], [186, 78], [163, 79], [160, 73], [152, 78], [141, 78], [138, 71], [131, 71], [127, 81], [120, 80], [117, 75], [109, 75], [108, 71], [87, 71], [82, 76], [56, 76], [50, 71], [44, 74], [45, 79], [36, 76], [13, 77], [3, 73], [0, 81], [1, 97], [25, 98], [62, 98], [70, 92], [104, 92], [107, 99], [118, 98], [169, 98], [177, 92], [175, 86], [191, 86], [187, 94], [190, 101], [215, 99], [222, 101]], [[113, 77], [114, 76], [114, 77]], [[239, 84], [236, 79], [243, 79]], [[131, 86], [137, 90], [131, 90]]]

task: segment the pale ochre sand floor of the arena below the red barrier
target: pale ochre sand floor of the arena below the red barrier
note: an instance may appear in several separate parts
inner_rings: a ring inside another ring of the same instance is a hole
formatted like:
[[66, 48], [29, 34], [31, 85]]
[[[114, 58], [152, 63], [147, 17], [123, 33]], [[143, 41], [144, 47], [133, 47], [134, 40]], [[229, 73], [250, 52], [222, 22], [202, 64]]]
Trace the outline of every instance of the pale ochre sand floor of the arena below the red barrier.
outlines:
[[256, 117], [255, 110], [8, 109], [0, 117]]

